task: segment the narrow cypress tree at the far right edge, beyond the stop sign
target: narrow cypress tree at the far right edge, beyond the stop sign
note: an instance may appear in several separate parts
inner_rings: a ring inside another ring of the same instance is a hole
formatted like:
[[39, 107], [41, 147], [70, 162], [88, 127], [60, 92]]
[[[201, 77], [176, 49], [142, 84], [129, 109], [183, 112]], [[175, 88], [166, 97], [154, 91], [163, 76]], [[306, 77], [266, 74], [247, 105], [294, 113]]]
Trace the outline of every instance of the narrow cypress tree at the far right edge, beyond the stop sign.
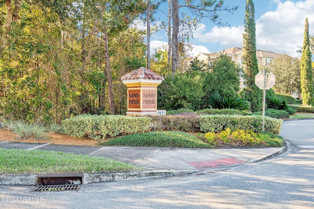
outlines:
[[303, 51], [301, 56], [301, 91], [303, 104], [314, 105], [313, 71], [310, 52], [309, 22], [305, 19]]

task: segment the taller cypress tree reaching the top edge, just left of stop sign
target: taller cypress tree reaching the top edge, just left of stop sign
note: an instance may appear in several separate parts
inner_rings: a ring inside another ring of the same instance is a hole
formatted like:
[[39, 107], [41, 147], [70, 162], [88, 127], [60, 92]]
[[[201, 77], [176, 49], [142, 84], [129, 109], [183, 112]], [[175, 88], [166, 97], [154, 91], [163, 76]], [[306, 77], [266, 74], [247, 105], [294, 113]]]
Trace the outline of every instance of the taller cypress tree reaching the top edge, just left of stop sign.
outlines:
[[245, 6], [243, 61], [244, 61], [244, 95], [251, 103], [251, 110], [257, 112], [262, 108], [262, 91], [255, 85], [255, 75], [259, 72], [256, 58], [255, 9], [253, 0], [247, 0]]

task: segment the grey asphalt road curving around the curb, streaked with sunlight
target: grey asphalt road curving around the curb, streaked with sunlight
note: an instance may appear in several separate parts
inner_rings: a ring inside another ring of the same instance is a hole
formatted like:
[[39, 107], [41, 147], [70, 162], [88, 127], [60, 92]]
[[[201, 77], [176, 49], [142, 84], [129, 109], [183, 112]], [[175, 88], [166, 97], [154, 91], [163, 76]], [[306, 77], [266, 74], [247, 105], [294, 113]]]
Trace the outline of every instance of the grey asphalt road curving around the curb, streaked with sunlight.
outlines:
[[276, 158], [156, 180], [83, 185], [78, 192], [0, 186], [0, 208], [313, 209], [314, 120], [285, 121]]

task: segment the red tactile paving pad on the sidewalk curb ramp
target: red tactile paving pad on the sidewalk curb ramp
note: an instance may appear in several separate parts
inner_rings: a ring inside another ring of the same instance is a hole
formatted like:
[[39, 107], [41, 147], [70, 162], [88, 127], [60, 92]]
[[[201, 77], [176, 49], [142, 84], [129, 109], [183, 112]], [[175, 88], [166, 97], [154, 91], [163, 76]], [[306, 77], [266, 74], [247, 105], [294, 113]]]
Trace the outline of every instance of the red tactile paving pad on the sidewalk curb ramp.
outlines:
[[204, 168], [214, 168], [214, 167], [221, 167], [226, 165], [233, 165], [238, 163], [245, 163], [245, 161], [236, 159], [236, 158], [221, 158], [217, 160], [209, 160], [209, 161], [199, 161], [199, 162], [188, 162], [187, 164], [192, 165], [197, 169], [204, 169]]

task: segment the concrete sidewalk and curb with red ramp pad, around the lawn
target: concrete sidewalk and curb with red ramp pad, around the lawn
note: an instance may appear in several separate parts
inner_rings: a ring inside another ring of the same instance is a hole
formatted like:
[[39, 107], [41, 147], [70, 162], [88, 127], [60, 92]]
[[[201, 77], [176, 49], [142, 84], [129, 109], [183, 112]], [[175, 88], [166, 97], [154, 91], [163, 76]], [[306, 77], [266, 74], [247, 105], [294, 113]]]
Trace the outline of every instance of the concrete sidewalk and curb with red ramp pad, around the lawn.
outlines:
[[[83, 184], [104, 181], [126, 181], [198, 173], [218, 167], [255, 163], [278, 156], [287, 146], [261, 149], [180, 149], [73, 146], [50, 143], [0, 141], [6, 149], [50, 150], [96, 157], [142, 166], [145, 171], [83, 174]], [[34, 185], [35, 175], [0, 175], [0, 185]]]

